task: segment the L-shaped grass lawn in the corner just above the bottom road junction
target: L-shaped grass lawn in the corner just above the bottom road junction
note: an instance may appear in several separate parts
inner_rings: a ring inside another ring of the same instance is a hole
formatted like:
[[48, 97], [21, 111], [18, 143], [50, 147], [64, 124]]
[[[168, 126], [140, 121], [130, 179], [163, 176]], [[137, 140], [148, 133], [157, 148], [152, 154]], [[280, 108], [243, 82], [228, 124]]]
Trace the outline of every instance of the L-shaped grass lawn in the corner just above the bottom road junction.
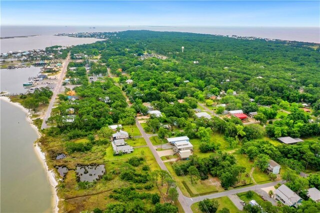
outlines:
[[[215, 181], [216, 178], [212, 178], [209, 177], [209, 179], [206, 180], [197, 180], [195, 183], [192, 183], [192, 185], [190, 185], [190, 178], [189, 175], [184, 176], [177, 176], [170, 164], [170, 162], [165, 162], [164, 163], [165, 166], [168, 168], [170, 174], [172, 175], [173, 179], [176, 181], [176, 184], [178, 185], [178, 187], [181, 189], [182, 193], [186, 196], [197, 196], [197, 195], [192, 195], [193, 194], [208, 194], [208, 193], [213, 193], [213, 192], [217, 192], [217, 191], [222, 191], [222, 187], [217, 187], [215, 185]], [[187, 185], [188, 189], [184, 186], [183, 182], [185, 182], [185, 184]], [[218, 183], [219, 185], [220, 183]], [[189, 193], [189, 191], [191, 192], [191, 194]]]

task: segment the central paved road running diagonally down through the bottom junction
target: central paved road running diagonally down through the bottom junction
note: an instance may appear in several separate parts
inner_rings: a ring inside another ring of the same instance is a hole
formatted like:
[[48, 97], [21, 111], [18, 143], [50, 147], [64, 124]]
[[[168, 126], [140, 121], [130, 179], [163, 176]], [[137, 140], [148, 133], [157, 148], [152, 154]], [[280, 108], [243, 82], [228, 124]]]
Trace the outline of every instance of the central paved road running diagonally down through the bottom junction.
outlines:
[[[138, 127], [140, 133], [142, 134], [143, 138], [145, 139], [146, 141], [146, 144], [149, 146], [149, 149], [151, 150], [156, 162], [159, 164], [160, 168], [163, 169], [163, 170], [166, 170], [168, 171], [168, 169], [166, 168], [166, 166], [164, 165], [163, 161], [161, 160], [161, 158], [159, 157], [158, 153], [156, 152], [156, 150], [154, 149], [149, 137], [147, 136], [147, 134], [144, 132], [141, 124], [139, 123], [138, 119], [135, 118], [135, 124], [136, 126]], [[169, 171], [168, 171], [169, 172]], [[179, 192], [179, 202], [183, 208], [183, 210], [186, 212], [186, 213], [190, 213], [192, 212], [191, 210], [191, 205], [189, 202], [187, 202], [187, 200], [185, 199], [185, 196], [182, 194], [181, 190], [177, 187], [177, 190]]]

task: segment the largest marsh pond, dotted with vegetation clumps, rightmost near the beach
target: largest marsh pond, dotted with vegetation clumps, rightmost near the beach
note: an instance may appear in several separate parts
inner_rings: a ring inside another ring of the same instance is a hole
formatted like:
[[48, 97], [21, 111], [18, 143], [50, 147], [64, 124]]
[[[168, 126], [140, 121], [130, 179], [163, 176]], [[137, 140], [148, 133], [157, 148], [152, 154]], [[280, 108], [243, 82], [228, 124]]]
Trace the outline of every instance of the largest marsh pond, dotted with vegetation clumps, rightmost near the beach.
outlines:
[[76, 175], [80, 181], [93, 182], [100, 179], [105, 173], [104, 165], [77, 165]]

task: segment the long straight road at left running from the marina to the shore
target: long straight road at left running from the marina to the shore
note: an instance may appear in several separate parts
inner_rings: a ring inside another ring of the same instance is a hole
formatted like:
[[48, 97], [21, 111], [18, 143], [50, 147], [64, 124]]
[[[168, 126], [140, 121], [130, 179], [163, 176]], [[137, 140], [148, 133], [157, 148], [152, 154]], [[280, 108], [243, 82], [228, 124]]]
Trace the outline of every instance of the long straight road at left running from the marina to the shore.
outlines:
[[64, 63], [63, 63], [60, 77], [59, 77], [59, 79], [58, 79], [58, 81], [57, 81], [57, 83], [56, 83], [56, 86], [55, 86], [54, 90], [53, 90], [53, 94], [52, 94], [51, 100], [50, 100], [50, 102], [49, 102], [49, 106], [48, 106], [48, 108], [46, 109], [45, 115], [44, 115], [44, 117], [43, 117], [41, 129], [47, 127], [47, 124], [45, 123], [45, 121], [49, 118], [49, 116], [50, 116], [50, 114], [51, 114], [52, 107], [53, 107], [53, 103], [54, 103], [55, 98], [56, 98], [56, 95], [57, 95], [57, 94], [59, 93], [59, 91], [60, 91], [60, 87], [61, 87], [61, 84], [62, 84], [63, 77], [64, 77], [64, 75], [65, 75], [66, 67], [68, 66], [68, 63], [69, 63], [69, 59], [70, 59], [70, 52], [68, 53], [68, 56], [66, 57], [66, 59], [65, 59], [65, 61], [64, 61]]

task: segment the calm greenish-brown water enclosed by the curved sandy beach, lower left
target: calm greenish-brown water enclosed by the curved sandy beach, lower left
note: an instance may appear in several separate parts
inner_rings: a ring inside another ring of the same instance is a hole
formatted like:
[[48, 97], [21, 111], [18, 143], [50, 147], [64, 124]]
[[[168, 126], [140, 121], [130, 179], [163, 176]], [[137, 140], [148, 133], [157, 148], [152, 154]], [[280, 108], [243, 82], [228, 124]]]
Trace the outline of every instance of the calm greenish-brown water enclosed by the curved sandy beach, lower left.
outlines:
[[35, 130], [20, 108], [0, 100], [1, 212], [50, 212], [51, 188], [33, 148]]

